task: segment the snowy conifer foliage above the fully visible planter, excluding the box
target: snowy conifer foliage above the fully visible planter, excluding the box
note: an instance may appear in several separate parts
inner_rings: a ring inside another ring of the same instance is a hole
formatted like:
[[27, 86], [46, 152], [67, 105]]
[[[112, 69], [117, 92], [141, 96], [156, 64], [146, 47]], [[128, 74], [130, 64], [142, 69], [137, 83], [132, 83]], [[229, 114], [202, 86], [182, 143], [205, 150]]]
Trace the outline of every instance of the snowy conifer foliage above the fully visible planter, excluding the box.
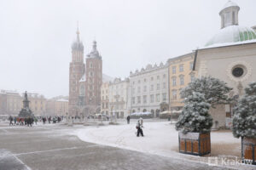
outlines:
[[212, 127], [212, 116], [208, 113], [210, 104], [204, 94], [193, 92], [185, 99], [185, 105], [178, 117], [176, 129], [183, 133], [208, 133]]

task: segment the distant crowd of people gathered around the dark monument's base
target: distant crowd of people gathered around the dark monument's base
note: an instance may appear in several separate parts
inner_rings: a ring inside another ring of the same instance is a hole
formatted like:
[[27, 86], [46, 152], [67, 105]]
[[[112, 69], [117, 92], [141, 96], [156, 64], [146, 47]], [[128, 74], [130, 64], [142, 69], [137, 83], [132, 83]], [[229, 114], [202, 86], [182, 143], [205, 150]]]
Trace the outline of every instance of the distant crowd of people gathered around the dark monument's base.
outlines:
[[26, 125], [32, 127], [33, 124], [38, 124], [38, 122], [43, 122], [44, 124], [48, 122], [49, 124], [61, 122], [63, 120], [63, 117], [61, 116], [29, 116], [26, 118], [23, 117], [17, 117], [17, 116], [9, 116], [9, 126], [15, 126], [15, 125]]

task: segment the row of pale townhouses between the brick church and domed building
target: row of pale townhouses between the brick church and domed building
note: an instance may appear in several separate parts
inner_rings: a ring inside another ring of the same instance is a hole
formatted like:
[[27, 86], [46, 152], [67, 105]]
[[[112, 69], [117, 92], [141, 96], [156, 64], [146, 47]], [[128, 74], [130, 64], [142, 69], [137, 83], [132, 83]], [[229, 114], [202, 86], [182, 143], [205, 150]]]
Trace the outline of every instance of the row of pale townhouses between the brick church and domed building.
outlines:
[[179, 93], [193, 81], [195, 52], [168, 59], [166, 64], [147, 65], [130, 77], [104, 82], [101, 88], [101, 111], [120, 118], [134, 112], [151, 112], [158, 117], [162, 111], [181, 111]]

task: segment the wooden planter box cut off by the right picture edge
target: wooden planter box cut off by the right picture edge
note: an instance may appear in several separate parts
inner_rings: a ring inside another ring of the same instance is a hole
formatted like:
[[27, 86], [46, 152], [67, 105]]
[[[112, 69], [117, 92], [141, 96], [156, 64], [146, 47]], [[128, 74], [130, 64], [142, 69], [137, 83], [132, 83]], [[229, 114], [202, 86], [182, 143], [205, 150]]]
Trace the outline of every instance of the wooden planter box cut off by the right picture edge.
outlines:
[[241, 159], [244, 163], [256, 165], [256, 139], [241, 138]]

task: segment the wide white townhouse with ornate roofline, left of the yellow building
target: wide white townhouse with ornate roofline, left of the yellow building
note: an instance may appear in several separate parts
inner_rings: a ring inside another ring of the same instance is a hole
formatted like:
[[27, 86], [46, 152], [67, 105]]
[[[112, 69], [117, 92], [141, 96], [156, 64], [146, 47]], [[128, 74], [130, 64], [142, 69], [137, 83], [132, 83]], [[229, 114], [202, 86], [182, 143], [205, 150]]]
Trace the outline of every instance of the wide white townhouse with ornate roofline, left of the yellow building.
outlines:
[[130, 113], [151, 112], [154, 117], [158, 117], [161, 111], [168, 110], [168, 82], [168, 63], [147, 65], [141, 71], [130, 72]]

